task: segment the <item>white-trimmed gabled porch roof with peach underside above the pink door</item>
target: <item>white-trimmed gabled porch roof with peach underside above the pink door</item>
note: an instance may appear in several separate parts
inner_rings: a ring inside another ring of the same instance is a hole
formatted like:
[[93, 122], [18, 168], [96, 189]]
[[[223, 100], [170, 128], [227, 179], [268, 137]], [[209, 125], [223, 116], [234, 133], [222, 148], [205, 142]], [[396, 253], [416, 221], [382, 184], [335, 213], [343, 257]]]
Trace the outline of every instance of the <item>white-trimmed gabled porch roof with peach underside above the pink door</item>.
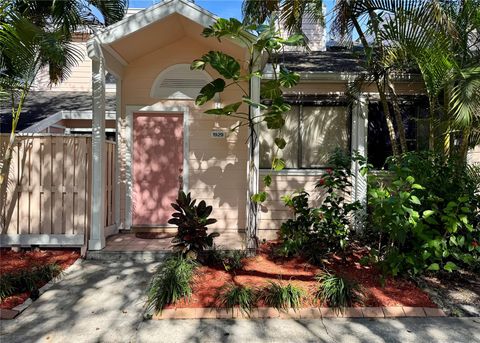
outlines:
[[[185, 36], [212, 50], [219, 49], [217, 40], [201, 36], [203, 29], [214, 24], [217, 18], [191, 1], [165, 0], [98, 32], [87, 42], [88, 55], [92, 59], [103, 57], [107, 70], [121, 78], [132, 61]], [[244, 57], [240, 42], [229, 41], [222, 44], [222, 48]]]

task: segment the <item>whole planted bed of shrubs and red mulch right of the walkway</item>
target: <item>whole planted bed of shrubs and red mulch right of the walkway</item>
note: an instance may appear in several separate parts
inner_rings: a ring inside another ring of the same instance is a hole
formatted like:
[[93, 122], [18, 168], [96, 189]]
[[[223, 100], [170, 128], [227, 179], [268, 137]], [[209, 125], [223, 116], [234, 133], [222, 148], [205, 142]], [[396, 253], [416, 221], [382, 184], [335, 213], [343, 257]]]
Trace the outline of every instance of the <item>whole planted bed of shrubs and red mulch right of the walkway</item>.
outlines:
[[247, 317], [259, 308], [387, 317], [408, 315], [406, 309], [444, 315], [440, 305], [452, 315], [466, 313], [449, 305], [456, 296], [470, 300], [469, 314], [476, 315], [478, 169], [429, 153], [392, 160], [388, 179], [370, 178], [365, 227], [354, 231], [362, 206], [346, 196], [352, 159], [364, 163], [342, 151], [332, 154], [332, 167], [316, 185], [320, 206], [312, 206], [304, 190], [285, 195], [292, 217], [279, 228], [278, 241], [264, 242], [249, 257], [214, 249], [218, 235], [207, 233], [216, 222], [212, 207], [180, 192], [170, 220], [178, 226], [172, 240], [177, 255], [155, 274], [147, 309], [160, 318], [163, 310], [171, 317], [172, 310], [184, 316], [182, 309], [196, 308]]

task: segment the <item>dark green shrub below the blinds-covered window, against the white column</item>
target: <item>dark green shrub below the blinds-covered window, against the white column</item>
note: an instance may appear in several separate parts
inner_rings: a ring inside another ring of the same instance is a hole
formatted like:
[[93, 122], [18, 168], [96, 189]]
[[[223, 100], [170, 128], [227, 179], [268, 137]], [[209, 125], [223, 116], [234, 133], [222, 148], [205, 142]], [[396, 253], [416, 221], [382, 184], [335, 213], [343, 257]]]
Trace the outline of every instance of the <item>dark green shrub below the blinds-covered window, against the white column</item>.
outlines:
[[320, 207], [309, 206], [309, 194], [305, 191], [282, 197], [293, 210], [294, 218], [280, 228], [280, 254], [292, 256], [301, 252], [318, 262], [325, 254], [347, 248], [352, 215], [361, 207], [358, 201], [349, 202], [345, 198], [352, 186], [352, 160], [362, 162], [359, 156], [352, 157], [342, 150], [330, 156], [332, 168], [326, 169], [316, 185], [325, 194]]

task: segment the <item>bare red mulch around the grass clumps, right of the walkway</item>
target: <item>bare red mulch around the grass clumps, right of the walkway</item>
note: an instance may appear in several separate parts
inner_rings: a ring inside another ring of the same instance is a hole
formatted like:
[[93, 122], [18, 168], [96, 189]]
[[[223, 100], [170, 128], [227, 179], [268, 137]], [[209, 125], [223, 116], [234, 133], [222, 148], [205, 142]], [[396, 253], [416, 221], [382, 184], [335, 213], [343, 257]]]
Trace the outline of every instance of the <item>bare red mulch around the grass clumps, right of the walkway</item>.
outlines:
[[[269, 281], [292, 283], [302, 287], [310, 296], [304, 306], [318, 305], [313, 299], [316, 288], [315, 276], [321, 269], [302, 258], [282, 259], [273, 257], [272, 248], [276, 243], [266, 243], [253, 258], [244, 260], [244, 267], [236, 273], [229, 273], [221, 267], [201, 266], [195, 277], [193, 295], [190, 301], [179, 302], [167, 308], [217, 307], [215, 296], [227, 283], [261, 287]], [[366, 299], [356, 306], [412, 306], [437, 307], [426, 293], [413, 282], [402, 278], [387, 278], [384, 286], [380, 282], [380, 272], [374, 267], [362, 266], [359, 260], [367, 253], [365, 249], [354, 247], [345, 260], [331, 256], [329, 269], [363, 286]], [[263, 304], [257, 304], [262, 306]]]

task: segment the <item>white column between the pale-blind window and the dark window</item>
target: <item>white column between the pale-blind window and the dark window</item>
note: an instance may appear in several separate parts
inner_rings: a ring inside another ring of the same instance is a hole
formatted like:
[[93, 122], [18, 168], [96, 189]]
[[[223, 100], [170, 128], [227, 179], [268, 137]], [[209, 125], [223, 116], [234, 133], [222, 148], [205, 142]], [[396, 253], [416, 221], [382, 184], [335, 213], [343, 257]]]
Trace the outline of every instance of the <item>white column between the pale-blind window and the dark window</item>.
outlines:
[[[367, 157], [367, 136], [368, 136], [368, 102], [360, 97], [353, 104], [352, 108], [352, 152], [358, 152]], [[355, 216], [354, 229], [364, 228], [367, 210], [367, 176], [360, 173], [360, 163], [352, 163], [353, 189], [352, 198], [360, 201], [362, 209]]]

